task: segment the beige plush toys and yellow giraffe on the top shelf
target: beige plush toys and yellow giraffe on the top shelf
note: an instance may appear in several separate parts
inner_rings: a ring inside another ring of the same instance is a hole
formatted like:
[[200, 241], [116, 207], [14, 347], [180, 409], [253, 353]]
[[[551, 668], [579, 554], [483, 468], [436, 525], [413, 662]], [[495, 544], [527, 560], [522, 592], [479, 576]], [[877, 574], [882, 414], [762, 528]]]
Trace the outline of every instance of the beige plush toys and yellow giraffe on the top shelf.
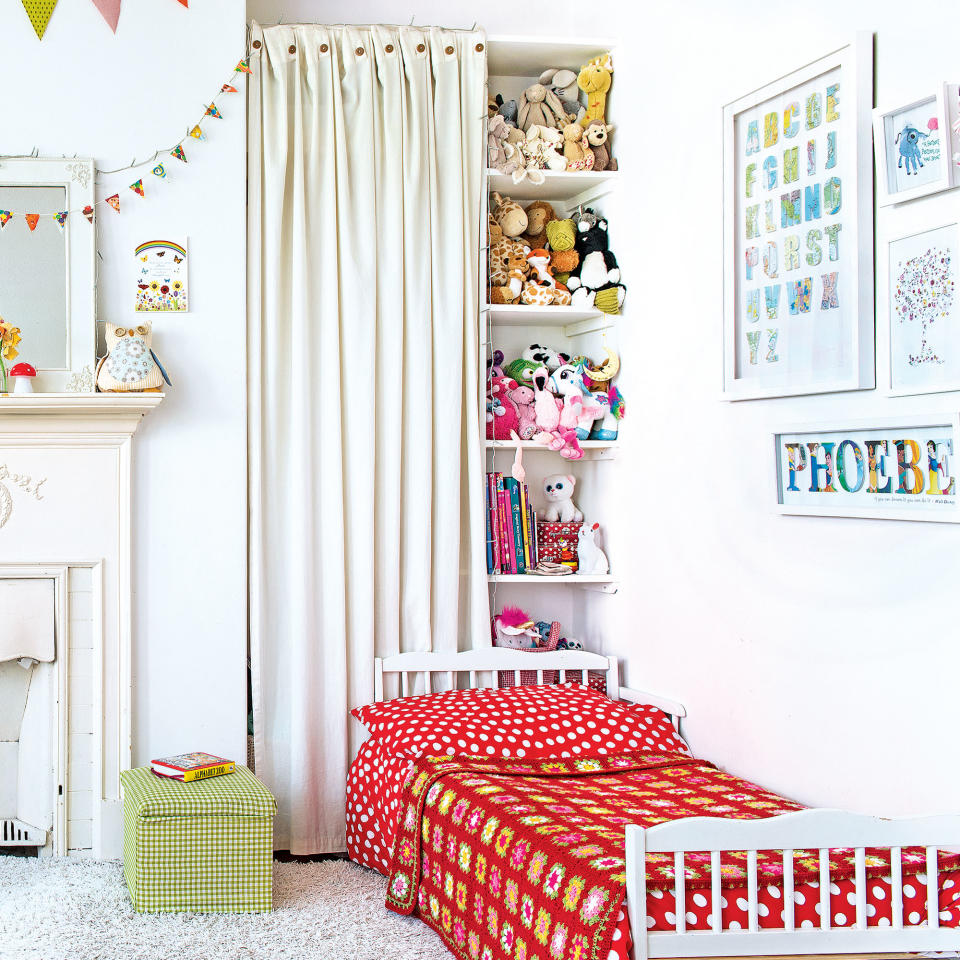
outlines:
[[[610, 156], [607, 94], [613, 81], [610, 54], [585, 63], [579, 73], [544, 70], [515, 100], [487, 101], [490, 166], [514, 183], [543, 182], [543, 170], [616, 170]], [[586, 98], [586, 106], [580, 94]]]

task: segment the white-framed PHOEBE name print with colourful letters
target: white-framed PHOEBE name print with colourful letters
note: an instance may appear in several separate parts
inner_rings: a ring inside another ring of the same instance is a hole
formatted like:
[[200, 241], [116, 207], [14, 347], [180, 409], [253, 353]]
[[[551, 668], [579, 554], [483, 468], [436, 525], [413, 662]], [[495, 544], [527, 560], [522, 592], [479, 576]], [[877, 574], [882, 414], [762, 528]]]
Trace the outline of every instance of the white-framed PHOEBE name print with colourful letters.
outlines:
[[960, 523], [957, 414], [774, 434], [779, 513]]

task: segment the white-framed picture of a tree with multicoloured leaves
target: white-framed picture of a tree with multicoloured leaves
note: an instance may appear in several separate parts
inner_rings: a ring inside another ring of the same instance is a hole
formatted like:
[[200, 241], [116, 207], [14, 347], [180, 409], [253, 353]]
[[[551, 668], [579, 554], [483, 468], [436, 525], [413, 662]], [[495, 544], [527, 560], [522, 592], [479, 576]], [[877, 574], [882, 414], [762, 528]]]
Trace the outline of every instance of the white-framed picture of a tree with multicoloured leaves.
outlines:
[[960, 390], [960, 198], [909, 204], [880, 220], [877, 318], [887, 396]]

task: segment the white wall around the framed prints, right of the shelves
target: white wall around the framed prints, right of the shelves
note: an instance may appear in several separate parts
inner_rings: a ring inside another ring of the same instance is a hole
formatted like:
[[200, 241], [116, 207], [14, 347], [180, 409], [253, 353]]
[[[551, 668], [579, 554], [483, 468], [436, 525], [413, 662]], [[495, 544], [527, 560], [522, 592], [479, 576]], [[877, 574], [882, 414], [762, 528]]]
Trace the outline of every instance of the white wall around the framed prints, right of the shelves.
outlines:
[[[340, 21], [333, 2], [248, 0], [262, 22]], [[398, 10], [354, 0], [355, 22], [402, 19], [490, 33], [529, 29], [508, 0]], [[801, 801], [884, 814], [956, 807], [949, 731], [960, 674], [953, 597], [958, 531], [885, 521], [779, 518], [769, 433], [780, 423], [955, 409], [956, 395], [877, 392], [728, 405], [719, 394], [720, 108], [877, 31], [882, 103], [957, 80], [955, 4], [608, 3], [555, 0], [536, 29], [617, 37], [624, 163], [612, 213], [630, 286], [625, 450], [609, 504], [624, 589], [590, 595], [586, 636], [627, 679], [681, 698], [694, 748]], [[628, 120], [632, 111], [634, 119]], [[957, 202], [956, 191], [937, 202]], [[624, 224], [623, 220], [628, 224]], [[614, 523], [615, 521], [615, 523]]]

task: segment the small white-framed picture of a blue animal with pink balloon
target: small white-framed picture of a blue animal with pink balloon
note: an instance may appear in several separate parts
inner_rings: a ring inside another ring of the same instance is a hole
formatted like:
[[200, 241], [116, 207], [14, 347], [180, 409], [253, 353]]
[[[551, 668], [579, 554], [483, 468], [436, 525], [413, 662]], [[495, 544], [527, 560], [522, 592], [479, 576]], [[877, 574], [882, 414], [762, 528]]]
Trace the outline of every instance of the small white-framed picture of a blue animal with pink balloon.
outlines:
[[[955, 90], [956, 84], [952, 86]], [[906, 203], [954, 186], [950, 89], [950, 84], [940, 83], [928, 96], [873, 111], [878, 206]]]

